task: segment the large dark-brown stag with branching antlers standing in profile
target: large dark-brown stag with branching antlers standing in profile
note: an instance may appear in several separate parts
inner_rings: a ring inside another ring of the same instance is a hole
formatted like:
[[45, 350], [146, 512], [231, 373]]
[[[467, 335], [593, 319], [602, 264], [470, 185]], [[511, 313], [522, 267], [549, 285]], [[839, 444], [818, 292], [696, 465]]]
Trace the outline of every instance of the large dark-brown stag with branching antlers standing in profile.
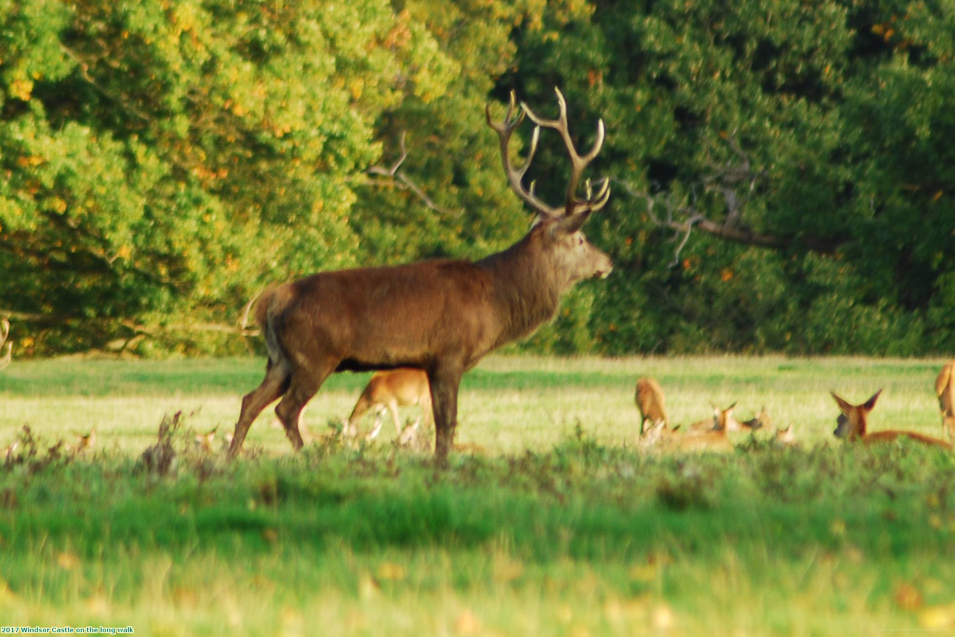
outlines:
[[[461, 376], [491, 350], [524, 338], [553, 318], [564, 292], [578, 281], [605, 277], [613, 264], [587, 242], [581, 228], [610, 195], [604, 179], [594, 191], [584, 173], [604, 144], [604, 122], [591, 150], [578, 154], [567, 128], [567, 108], [557, 91], [557, 120], [543, 120], [514, 94], [503, 121], [488, 125], [498, 134], [500, 159], [510, 187], [537, 212], [520, 241], [479, 261], [433, 260], [403, 266], [361, 268], [311, 275], [271, 288], [256, 307], [268, 362], [265, 379], [244, 396], [229, 457], [242, 449], [245, 434], [269, 403], [293, 449], [302, 448], [302, 407], [329, 374], [414, 367], [428, 375], [435, 417], [435, 460], [452, 449]], [[519, 112], [516, 112], [519, 110]], [[508, 144], [524, 117], [536, 127], [527, 159], [510, 164]], [[523, 176], [537, 149], [541, 127], [561, 134], [571, 173], [563, 205], [551, 207], [525, 188]]]

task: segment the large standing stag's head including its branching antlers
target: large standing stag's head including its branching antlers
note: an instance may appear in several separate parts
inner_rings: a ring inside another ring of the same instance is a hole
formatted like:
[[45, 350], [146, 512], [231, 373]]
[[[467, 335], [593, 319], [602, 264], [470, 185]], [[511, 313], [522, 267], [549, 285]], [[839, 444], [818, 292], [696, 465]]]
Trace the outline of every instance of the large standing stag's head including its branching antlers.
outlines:
[[[566, 288], [584, 278], [595, 276], [604, 278], [613, 270], [610, 257], [592, 246], [584, 236], [584, 232], [581, 231], [590, 215], [606, 205], [607, 199], [610, 197], [610, 182], [607, 179], [602, 179], [596, 185], [591, 185], [590, 180], [586, 180], [584, 182], [584, 198], [578, 197], [578, 187], [584, 168], [597, 157], [604, 145], [604, 121], [599, 121], [597, 124], [597, 139], [590, 152], [581, 156], [578, 154], [567, 129], [566, 102], [561, 91], [559, 89], [554, 90], [557, 92], [557, 101], [560, 106], [560, 114], [557, 120], [539, 118], [523, 102], [520, 103], [520, 108], [518, 108], [513, 91], [503, 121], [495, 122], [491, 120], [490, 105], [485, 109], [485, 115], [488, 125], [498, 133], [500, 158], [511, 189], [518, 194], [521, 201], [538, 214], [537, 221], [528, 233], [527, 241], [534, 245], [535, 253], [542, 265], [561, 279], [562, 287]], [[520, 167], [514, 167], [510, 163], [507, 148], [511, 135], [520, 125], [520, 122], [524, 120], [524, 117], [529, 118], [536, 125], [531, 137], [527, 159]], [[531, 165], [531, 160], [534, 159], [534, 153], [541, 137], [541, 127], [554, 129], [561, 134], [567, 154], [570, 157], [570, 181], [567, 184], [567, 194], [562, 207], [552, 207], [541, 201], [534, 193], [534, 182], [531, 182], [529, 188], [525, 188], [522, 184], [524, 174]]]

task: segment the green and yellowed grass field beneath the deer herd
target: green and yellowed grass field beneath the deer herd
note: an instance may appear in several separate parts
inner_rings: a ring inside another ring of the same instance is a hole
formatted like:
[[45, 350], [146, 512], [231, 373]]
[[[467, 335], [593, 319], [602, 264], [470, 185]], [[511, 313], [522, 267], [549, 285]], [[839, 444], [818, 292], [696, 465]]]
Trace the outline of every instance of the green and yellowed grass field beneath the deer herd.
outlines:
[[[870, 427], [940, 434], [941, 361], [491, 358], [465, 377], [456, 454], [384, 440], [290, 453], [271, 412], [227, 465], [261, 361], [15, 362], [0, 373], [3, 626], [139, 634], [853, 635], [955, 631], [955, 454], [832, 439], [835, 389], [884, 387]], [[766, 406], [801, 446], [635, 447], [638, 375], [675, 423]], [[308, 407], [313, 436], [367, 375]], [[182, 411], [169, 472], [140, 453]], [[405, 412], [414, 417], [414, 411]], [[35, 452], [24, 426], [39, 439]], [[369, 423], [366, 423], [366, 428]], [[96, 427], [96, 447], [49, 451]], [[16, 460], [16, 461], [13, 461]]]

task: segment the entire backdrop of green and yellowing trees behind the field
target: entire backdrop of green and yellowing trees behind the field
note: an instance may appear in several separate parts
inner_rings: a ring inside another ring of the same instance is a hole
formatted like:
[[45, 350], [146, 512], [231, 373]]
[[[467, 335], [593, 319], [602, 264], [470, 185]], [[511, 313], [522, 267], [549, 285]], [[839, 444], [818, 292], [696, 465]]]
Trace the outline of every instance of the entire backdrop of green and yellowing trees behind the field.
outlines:
[[[949, 0], [36, 0], [0, 23], [15, 355], [239, 351], [269, 283], [503, 249], [530, 215], [484, 105], [546, 112], [554, 86], [584, 143], [605, 120], [585, 230], [616, 270], [523, 347], [955, 341]], [[559, 143], [532, 167], [555, 201], [566, 171]]]

